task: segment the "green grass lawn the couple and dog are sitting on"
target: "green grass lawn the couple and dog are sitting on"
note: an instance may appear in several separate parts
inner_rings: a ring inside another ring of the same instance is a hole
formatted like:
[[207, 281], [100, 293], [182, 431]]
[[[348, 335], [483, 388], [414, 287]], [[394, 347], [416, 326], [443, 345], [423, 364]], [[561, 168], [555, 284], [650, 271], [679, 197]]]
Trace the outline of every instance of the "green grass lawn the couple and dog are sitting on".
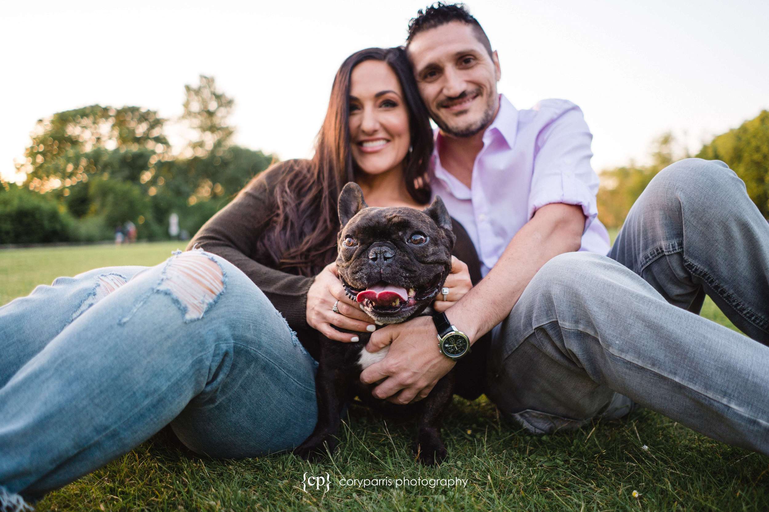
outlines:
[[[2, 250], [0, 303], [57, 276], [160, 263], [177, 246]], [[703, 315], [731, 325], [709, 299]], [[712, 441], [644, 409], [618, 421], [537, 437], [504, 424], [484, 397], [473, 402], [455, 397], [444, 421], [449, 458], [438, 468], [414, 462], [408, 449], [412, 428], [353, 405], [337, 453], [320, 464], [289, 454], [201, 459], [161, 431], [48, 494], [38, 510], [769, 510], [767, 457]], [[328, 473], [328, 491], [305, 492], [305, 472]], [[342, 478], [385, 482], [348, 486], [339, 484]], [[412, 482], [397, 485], [399, 478]], [[431, 487], [431, 478], [468, 482]]]

